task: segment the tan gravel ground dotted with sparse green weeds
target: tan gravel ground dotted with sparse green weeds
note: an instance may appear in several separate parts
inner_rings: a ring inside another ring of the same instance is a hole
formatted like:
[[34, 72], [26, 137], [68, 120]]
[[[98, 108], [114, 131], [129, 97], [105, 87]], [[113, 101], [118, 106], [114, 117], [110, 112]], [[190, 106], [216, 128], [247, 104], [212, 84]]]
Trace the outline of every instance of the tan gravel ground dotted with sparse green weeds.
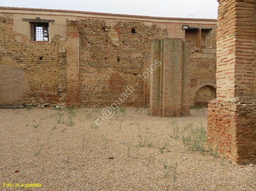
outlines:
[[[118, 111], [97, 128], [91, 124], [102, 108], [74, 109], [73, 115], [67, 109], [0, 109], [0, 190], [256, 190], [255, 166], [226, 159], [222, 165], [223, 157], [206, 149], [184, 148], [182, 135], [193, 130], [185, 126], [206, 128], [207, 109], [175, 119], [137, 109], [127, 108], [125, 116]], [[35, 183], [41, 187], [25, 188]]]

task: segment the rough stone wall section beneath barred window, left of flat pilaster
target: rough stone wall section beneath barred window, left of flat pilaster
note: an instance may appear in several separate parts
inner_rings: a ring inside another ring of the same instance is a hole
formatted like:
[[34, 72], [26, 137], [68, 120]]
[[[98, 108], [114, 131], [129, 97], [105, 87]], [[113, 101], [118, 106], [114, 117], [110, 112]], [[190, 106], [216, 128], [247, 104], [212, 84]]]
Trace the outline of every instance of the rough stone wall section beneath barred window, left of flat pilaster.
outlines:
[[0, 15], [0, 107], [66, 102], [66, 53], [13, 31], [13, 15]]

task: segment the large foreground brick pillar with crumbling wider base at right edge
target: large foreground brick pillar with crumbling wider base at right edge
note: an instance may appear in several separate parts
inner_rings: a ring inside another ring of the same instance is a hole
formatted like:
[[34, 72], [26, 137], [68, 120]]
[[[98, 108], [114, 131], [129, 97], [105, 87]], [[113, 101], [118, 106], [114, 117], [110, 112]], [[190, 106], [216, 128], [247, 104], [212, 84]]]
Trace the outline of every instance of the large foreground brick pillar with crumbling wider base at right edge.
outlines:
[[217, 99], [209, 102], [208, 145], [235, 163], [256, 162], [256, 1], [220, 0]]

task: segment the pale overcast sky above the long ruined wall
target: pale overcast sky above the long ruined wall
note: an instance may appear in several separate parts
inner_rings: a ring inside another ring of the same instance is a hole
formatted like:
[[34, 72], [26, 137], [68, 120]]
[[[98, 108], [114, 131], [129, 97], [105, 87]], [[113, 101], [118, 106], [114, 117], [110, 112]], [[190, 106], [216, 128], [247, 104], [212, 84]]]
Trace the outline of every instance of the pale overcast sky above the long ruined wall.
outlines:
[[0, 6], [207, 19], [217, 19], [218, 10], [217, 0], [0, 0]]

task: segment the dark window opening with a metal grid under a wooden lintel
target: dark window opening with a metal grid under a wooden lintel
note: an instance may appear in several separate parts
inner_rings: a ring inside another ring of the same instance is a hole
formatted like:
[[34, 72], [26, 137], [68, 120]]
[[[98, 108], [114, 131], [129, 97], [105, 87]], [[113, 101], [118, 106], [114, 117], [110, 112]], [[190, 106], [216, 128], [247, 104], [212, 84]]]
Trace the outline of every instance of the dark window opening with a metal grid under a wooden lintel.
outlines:
[[31, 22], [31, 36], [33, 41], [48, 41], [49, 23]]

